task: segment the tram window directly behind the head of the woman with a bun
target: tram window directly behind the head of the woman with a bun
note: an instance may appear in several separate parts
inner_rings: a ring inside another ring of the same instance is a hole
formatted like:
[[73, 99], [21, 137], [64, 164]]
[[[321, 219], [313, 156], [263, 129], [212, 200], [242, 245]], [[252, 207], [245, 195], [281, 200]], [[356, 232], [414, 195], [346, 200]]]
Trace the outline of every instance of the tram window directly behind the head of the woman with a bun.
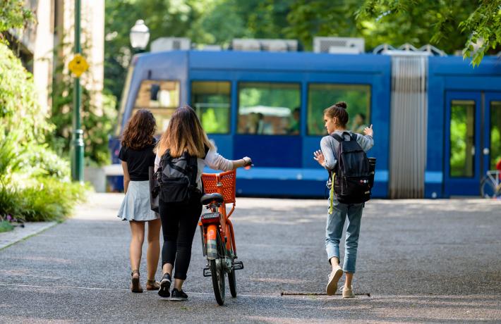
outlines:
[[337, 101], [346, 101], [348, 106], [348, 130], [362, 134], [370, 125], [370, 85], [312, 83], [308, 86], [308, 135], [327, 135], [324, 109]]

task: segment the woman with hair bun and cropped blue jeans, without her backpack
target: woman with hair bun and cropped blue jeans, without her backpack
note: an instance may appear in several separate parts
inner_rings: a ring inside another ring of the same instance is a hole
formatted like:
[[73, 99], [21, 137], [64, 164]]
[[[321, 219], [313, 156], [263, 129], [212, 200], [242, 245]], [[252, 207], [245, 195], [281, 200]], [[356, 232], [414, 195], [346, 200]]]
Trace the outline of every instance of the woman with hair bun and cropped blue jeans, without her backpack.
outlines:
[[[320, 142], [321, 150], [315, 151], [313, 155], [315, 160], [320, 163], [320, 166], [323, 166], [327, 170], [334, 169], [337, 163], [336, 152], [339, 142], [332, 137], [334, 133], [339, 136], [347, 136], [344, 135], [344, 132], [356, 135], [356, 142], [358, 142], [363, 151], [368, 151], [374, 145], [373, 125], [364, 128], [363, 133], [365, 136], [354, 134], [346, 130], [348, 119], [349, 116], [346, 112], [346, 103], [344, 101], [340, 101], [334, 104], [334, 106], [326, 108], [324, 111], [325, 128], [327, 128], [329, 135], [322, 137]], [[327, 216], [325, 249], [327, 251], [327, 259], [332, 266], [332, 271], [327, 282], [326, 291], [328, 295], [335, 294], [337, 282], [342, 277], [344, 271], [346, 273], [346, 280], [343, 287], [343, 298], [354, 298], [355, 294], [351, 287], [351, 282], [355, 273], [358, 235], [360, 234], [364, 204], [342, 204], [337, 201], [335, 194], [334, 197], [331, 194], [330, 199], [332, 199], [333, 208], [330, 208], [330, 213]], [[348, 217], [348, 228], [346, 228], [346, 240], [344, 242], [344, 263], [343, 268], [341, 268], [339, 266], [339, 242], [343, 234], [346, 217]]]

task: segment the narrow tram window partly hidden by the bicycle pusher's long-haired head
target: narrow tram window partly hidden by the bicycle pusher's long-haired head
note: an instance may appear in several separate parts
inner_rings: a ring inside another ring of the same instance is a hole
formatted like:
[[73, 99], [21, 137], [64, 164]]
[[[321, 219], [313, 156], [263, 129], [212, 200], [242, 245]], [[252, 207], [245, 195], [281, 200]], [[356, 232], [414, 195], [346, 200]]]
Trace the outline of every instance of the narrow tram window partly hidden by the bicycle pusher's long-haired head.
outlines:
[[191, 82], [191, 106], [208, 134], [229, 133], [230, 89], [228, 81]]

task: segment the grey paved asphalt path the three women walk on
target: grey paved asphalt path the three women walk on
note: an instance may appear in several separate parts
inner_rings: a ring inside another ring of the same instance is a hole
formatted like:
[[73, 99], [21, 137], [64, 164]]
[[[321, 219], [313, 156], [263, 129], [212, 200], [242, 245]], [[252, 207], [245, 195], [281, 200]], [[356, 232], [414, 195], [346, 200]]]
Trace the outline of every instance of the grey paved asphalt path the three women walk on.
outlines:
[[[0, 250], [1, 323], [501, 323], [500, 201], [368, 202], [358, 296], [346, 300], [322, 295], [326, 201], [239, 198], [232, 218], [245, 269], [236, 273], [239, 297], [228, 290], [217, 306], [198, 230], [188, 301], [128, 291], [130, 233], [115, 216], [121, 197], [94, 194], [73, 218]], [[145, 285], [144, 262], [141, 273]]]

